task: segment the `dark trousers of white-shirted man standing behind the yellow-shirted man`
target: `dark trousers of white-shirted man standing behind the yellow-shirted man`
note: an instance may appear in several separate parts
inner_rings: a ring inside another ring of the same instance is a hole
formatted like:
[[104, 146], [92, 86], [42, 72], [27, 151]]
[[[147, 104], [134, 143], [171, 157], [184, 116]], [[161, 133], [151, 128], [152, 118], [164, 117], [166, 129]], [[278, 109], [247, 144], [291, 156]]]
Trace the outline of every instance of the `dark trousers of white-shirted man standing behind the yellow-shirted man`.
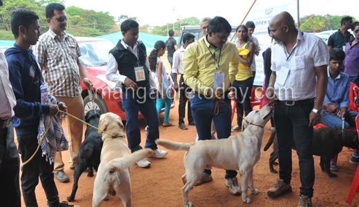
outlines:
[[191, 110], [191, 101], [190, 101], [191, 97], [188, 97], [188, 93], [192, 92], [192, 88], [187, 86], [183, 82], [184, 82], [183, 75], [181, 75], [181, 78], [179, 79], [179, 94], [181, 95], [181, 97], [179, 97], [178, 124], [184, 124], [184, 117], [186, 117], [186, 103], [188, 103], [187, 104], [188, 123], [191, 123], [194, 121], [193, 116], [192, 116], [192, 110]]

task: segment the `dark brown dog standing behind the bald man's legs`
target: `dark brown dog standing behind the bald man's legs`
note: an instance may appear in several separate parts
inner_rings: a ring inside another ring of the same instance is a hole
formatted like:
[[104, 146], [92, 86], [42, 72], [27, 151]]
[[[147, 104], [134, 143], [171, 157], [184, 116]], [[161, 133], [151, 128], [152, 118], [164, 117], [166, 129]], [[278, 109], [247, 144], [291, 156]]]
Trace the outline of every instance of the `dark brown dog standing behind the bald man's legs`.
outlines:
[[[278, 143], [275, 131], [272, 132], [268, 143], [264, 147], [264, 151], [273, 144], [273, 152], [269, 158], [269, 168], [271, 172], [277, 173], [273, 165], [278, 159]], [[320, 168], [327, 172], [329, 177], [337, 177], [336, 174], [330, 170], [330, 161], [342, 151], [343, 146], [348, 148], [359, 148], [358, 132], [356, 130], [344, 129], [342, 133], [341, 128], [315, 128], [313, 130], [313, 155], [320, 156]], [[291, 148], [295, 150], [295, 141], [293, 139]]]

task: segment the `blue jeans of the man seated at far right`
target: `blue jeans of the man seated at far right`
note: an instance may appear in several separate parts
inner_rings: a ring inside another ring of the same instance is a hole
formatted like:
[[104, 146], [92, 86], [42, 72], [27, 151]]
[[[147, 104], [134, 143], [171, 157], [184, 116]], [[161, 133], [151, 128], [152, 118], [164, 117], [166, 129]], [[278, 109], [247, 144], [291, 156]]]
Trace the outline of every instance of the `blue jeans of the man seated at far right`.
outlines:
[[[350, 129], [351, 126], [356, 126], [356, 116], [358, 115], [358, 112], [347, 110], [345, 115], [344, 128]], [[342, 128], [342, 119], [331, 113], [327, 114], [326, 112], [323, 112], [322, 120], [320, 122], [331, 128]]]

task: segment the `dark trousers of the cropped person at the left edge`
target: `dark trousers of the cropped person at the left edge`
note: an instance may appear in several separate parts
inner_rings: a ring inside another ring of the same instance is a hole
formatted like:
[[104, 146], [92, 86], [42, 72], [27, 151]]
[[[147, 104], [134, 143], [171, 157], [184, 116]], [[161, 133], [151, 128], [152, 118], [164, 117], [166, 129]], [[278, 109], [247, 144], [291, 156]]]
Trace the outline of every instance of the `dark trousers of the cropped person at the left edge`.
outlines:
[[14, 127], [0, 129], [0, 206], [21, 206], [19, 154], [14, 143]]

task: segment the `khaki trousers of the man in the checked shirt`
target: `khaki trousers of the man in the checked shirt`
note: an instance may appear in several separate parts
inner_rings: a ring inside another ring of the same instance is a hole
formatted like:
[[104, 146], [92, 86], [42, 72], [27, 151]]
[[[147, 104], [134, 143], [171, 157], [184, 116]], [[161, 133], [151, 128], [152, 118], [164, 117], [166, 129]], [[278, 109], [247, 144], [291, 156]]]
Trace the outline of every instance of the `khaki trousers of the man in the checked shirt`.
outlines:
[[[77, 97], [56, 97], [57, 100], [64, 102], [68, 108], [68, 113], [75, 117], [84, 120], [84, 101], [82, 101], [81, 95]], [[62, 120], [61, 120], [62, 123]], [[66, 124], [68, 128], [68, 150], [70, 151], [70, 168], [76, 166], [77, 154], [82, 142], [82, 132], [84, 124], [77, 119], [70, 116], [66, 118]], [[54, 173], [64, 170], [64, 162], [62, 161], [61, 152], [56, 152]]]

